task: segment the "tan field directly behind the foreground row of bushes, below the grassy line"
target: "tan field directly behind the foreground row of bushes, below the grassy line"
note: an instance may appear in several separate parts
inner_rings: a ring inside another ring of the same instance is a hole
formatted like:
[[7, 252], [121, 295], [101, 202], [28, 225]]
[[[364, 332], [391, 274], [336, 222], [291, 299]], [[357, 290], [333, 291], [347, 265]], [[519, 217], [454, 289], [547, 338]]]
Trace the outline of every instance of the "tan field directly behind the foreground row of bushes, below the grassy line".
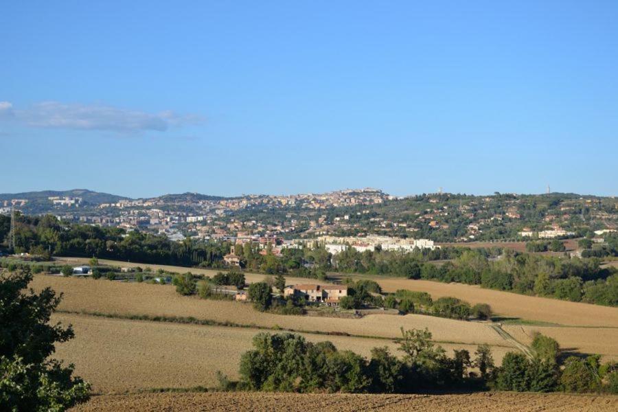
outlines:
[[[76, 365], [76, 374], [93, 384], [97, 393], [122, 393], [152, 388], [214, 387], [216, 371], [238, 378], [243, 352], [251, 339], [264, 332], [254, 328], [181, 325], [178, 323], [130, 321], [76, 314], [54, 314], [52, 321], [71, 323], [75, 339], [57, 345], [56, 358]], [[275, 332], [275, 331], [268, 331]], [[387, 339], [302, 334], [308, 341], [331, 341], [340, 350], [369, 356], [371, 348], [397, 345]], [[474, 345], [443, 344], [445, 350]], [[497, 363], [508, 348], [493, 347]]]

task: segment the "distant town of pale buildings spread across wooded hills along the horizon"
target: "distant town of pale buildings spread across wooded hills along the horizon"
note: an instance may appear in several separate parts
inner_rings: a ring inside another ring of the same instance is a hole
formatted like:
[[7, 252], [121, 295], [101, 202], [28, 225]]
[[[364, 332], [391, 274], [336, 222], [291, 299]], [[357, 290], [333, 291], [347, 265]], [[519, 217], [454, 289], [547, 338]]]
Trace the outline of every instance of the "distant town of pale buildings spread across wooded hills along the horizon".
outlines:
[[[356, 243], [360, 249], [371, 242], [399, 249], [407, 238], [435, 242], [563, 239], [618, 228], [617, 198], [559, 193], [398, 197], [366, 188], [228, 198], [185, 193], [131, 199], [87, 190], [0, 194], [0, 213], [13, 209], [53, 214], [66, 222], [146, 231], [171, 240], [270, 238], [282, 244], [330, 237], [327, 243]], [[388, 238], [373, 242], [367, 238], [371, 235]]]

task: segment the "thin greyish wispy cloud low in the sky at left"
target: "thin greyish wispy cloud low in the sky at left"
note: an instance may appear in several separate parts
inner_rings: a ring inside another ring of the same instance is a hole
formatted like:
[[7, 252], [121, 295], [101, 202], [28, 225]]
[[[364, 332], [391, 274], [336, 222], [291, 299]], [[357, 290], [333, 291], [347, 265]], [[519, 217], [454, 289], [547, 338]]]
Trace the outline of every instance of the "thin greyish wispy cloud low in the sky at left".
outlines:
[[41, 102], [25, 109], [13, 108], [10, 102], [0, 102], [0, 120], [12, 120], [37, 128], [75, 130], [109, 130], [163, 132], [174, 126], [201, 122], [196, 115], [179, 115], [173, 111], [151, 114], [99, 104], [67, 104]]

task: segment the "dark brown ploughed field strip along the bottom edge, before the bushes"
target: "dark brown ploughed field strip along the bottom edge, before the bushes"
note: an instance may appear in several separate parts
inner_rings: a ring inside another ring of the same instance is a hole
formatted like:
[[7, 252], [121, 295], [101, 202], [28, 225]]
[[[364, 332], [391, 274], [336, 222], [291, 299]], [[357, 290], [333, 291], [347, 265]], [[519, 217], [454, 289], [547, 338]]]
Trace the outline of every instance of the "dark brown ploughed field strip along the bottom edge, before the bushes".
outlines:
[[140, 393], [95, 396], [71, 409], [89, 411], [581, 411], [618, 410], [618, 396], [483, 392], [465, 395], [299, 393]]

